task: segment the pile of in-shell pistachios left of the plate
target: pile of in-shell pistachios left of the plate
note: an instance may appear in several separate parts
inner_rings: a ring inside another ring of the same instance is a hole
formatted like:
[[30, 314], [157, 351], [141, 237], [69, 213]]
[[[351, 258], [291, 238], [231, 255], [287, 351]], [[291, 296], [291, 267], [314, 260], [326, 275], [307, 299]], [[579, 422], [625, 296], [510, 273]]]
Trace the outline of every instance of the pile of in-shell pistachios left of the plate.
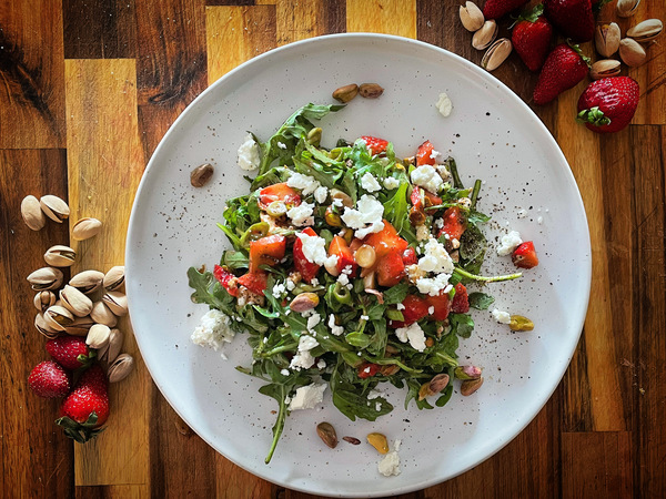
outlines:
[[[47, 220], [62, 223], [69, 218], [70, 208], [54, 195], [44, 195], [40, 200], [29, 195], [21, 202], [21, 215], [28, 227], [39, 231]], [[81, 218], [73, 225], [71, 237], [89, 240], [101, 227], [102, 223], [97, 218]], [[85, 344], [97, 352], [98, 359], [107, 368], [109, 381], [120, 381], [134, 365], [131, 355], [121, 354], [123, 334], [115, 328], [118, 318], [128, 313], [123, 293], [124, 266], [114, 266], [107, 273], [83, 271], [64, 284], [61, 268], [70, 267], [75, 259], [73, 248], [60, 244], [51, 246], [44, 253], [47, 266], [28, 276], [37, 292], [34, 327], [49, 339], [60, 335], [84, 336]]]

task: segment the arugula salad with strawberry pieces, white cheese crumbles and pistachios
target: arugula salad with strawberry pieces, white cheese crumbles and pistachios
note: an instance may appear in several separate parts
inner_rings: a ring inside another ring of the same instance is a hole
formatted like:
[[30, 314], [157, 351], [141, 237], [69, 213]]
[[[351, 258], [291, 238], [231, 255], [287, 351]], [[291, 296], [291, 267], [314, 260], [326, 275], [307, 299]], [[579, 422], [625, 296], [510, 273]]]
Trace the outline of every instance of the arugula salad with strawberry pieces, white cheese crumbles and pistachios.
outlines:
[[[430, 141], [404, 160], [372, 136], [322, 146], [313, 121], [342, 108], [307, 104], [266, 142], [248, 138], [240, 153], [259, 172], [218, 224], [232, 248], [212, 272], [188, 273], [192, 299], [246, 334], [253, 360], [238, 369], [280, 406], [266, 464], [289, 413], [326, 389], [351, 420], [374, 421], [393, 409], [380, 384], [418, 409], [447, 404], [456, 378], [478, 386], [456, 349], [474, 329], [470, 309], [494, 299], [467, 286], [522, 275], [481, 275], [482, 182], [467, 187]], [[538, 261], [523, 246], [514, 263], [529, 268]]]

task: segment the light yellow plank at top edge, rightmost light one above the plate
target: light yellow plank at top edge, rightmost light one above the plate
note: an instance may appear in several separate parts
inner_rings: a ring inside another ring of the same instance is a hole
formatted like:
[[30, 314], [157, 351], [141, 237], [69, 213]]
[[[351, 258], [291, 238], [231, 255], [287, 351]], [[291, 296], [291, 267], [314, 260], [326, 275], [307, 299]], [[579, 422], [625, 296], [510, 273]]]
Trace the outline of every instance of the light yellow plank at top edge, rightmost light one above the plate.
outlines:
[[347, 31], [416, 38], [416, 0], [347, 0]]

